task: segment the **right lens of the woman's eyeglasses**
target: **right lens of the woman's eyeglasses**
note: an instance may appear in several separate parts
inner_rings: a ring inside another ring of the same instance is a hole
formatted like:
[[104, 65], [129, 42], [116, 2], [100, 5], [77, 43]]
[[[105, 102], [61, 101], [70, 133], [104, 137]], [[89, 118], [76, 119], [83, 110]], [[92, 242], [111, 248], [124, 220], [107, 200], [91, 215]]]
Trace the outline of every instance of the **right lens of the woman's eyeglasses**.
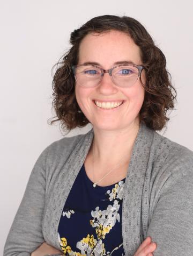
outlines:
[[113, 81], [120, 87], [131, 87], [139, 77], [139, 70], [135, 66], [120, 66], [112, 70]]

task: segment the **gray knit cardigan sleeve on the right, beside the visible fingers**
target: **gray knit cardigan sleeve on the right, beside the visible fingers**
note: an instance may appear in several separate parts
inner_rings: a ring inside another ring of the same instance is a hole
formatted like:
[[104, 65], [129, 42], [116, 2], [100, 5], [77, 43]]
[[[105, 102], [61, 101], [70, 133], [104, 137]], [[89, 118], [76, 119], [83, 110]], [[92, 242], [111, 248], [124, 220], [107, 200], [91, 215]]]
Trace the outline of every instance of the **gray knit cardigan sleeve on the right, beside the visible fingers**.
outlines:
[[165, 182], [147, 236], [157, 243], [154, 256], [193, 255], [193, 168]]

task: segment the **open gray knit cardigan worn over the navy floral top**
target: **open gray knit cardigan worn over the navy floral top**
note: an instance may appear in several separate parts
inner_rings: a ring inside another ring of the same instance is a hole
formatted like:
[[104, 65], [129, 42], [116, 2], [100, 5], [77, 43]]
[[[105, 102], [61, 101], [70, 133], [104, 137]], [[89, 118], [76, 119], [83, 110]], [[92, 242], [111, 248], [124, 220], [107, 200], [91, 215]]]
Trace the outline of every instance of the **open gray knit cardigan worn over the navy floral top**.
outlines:
[[[29, 256], [44, 241], [60, 250], [62, 209], [92, 139], [93, 129], [55, 141], [40, 154], [4, 256]], [[122, 236], [126, 256], [132, 256], [147, 236], [158, 245], [154, 256], [193, 255], [193, 152], [143, 123], [125, 179]]]

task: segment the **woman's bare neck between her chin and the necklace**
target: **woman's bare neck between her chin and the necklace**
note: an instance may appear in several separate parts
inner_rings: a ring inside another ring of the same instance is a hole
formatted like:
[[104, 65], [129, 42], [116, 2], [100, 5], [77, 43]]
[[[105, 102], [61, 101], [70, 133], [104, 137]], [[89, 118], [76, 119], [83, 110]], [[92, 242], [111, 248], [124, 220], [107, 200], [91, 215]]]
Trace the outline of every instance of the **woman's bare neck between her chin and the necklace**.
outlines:
[[[130, 154], [139, 131], [139, 120], [135, 120], [127, 129], [122, 130], [99, 130], [94, 131], [94, 161], [100, 165], [114, 165], [124, 155], [125, 160], [130, 160]], [[93, 143], [91, 151], [93, 150]]]

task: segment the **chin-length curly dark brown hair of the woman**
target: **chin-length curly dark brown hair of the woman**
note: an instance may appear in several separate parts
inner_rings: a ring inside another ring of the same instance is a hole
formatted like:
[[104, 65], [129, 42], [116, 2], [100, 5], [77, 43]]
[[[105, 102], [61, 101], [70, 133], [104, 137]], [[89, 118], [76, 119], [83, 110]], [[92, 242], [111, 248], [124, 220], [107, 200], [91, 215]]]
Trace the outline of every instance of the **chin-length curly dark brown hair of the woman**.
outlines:
[[70, 44], [72, 47], [55, 65], [52, 106], [56, 112], [54, 118], [57, 117], [57, 119], [52, 120], [50, 124], [60, 120], [62, 129], [70, 131], [90, 123], [77, 103], [75, 77], [71, 67], [78, 63], [79, 45], [85, 35], [110, 30], [127, 33], [139, 46], [146, 76], [146, 83], [142, 83], [145, 89], [145, 98], [139, 112], [139, 119], [154, 131], [162, 130], [169, 120], [166, 113], [169, 109], [174, 109], [174, 100], [176, 99], [176, 90], [172, 86], [171, 76], [166, 70], [165, 55], [155, 46], [150, 34], [136, 19], [114, 15], [94, 17], [71, 33]]

